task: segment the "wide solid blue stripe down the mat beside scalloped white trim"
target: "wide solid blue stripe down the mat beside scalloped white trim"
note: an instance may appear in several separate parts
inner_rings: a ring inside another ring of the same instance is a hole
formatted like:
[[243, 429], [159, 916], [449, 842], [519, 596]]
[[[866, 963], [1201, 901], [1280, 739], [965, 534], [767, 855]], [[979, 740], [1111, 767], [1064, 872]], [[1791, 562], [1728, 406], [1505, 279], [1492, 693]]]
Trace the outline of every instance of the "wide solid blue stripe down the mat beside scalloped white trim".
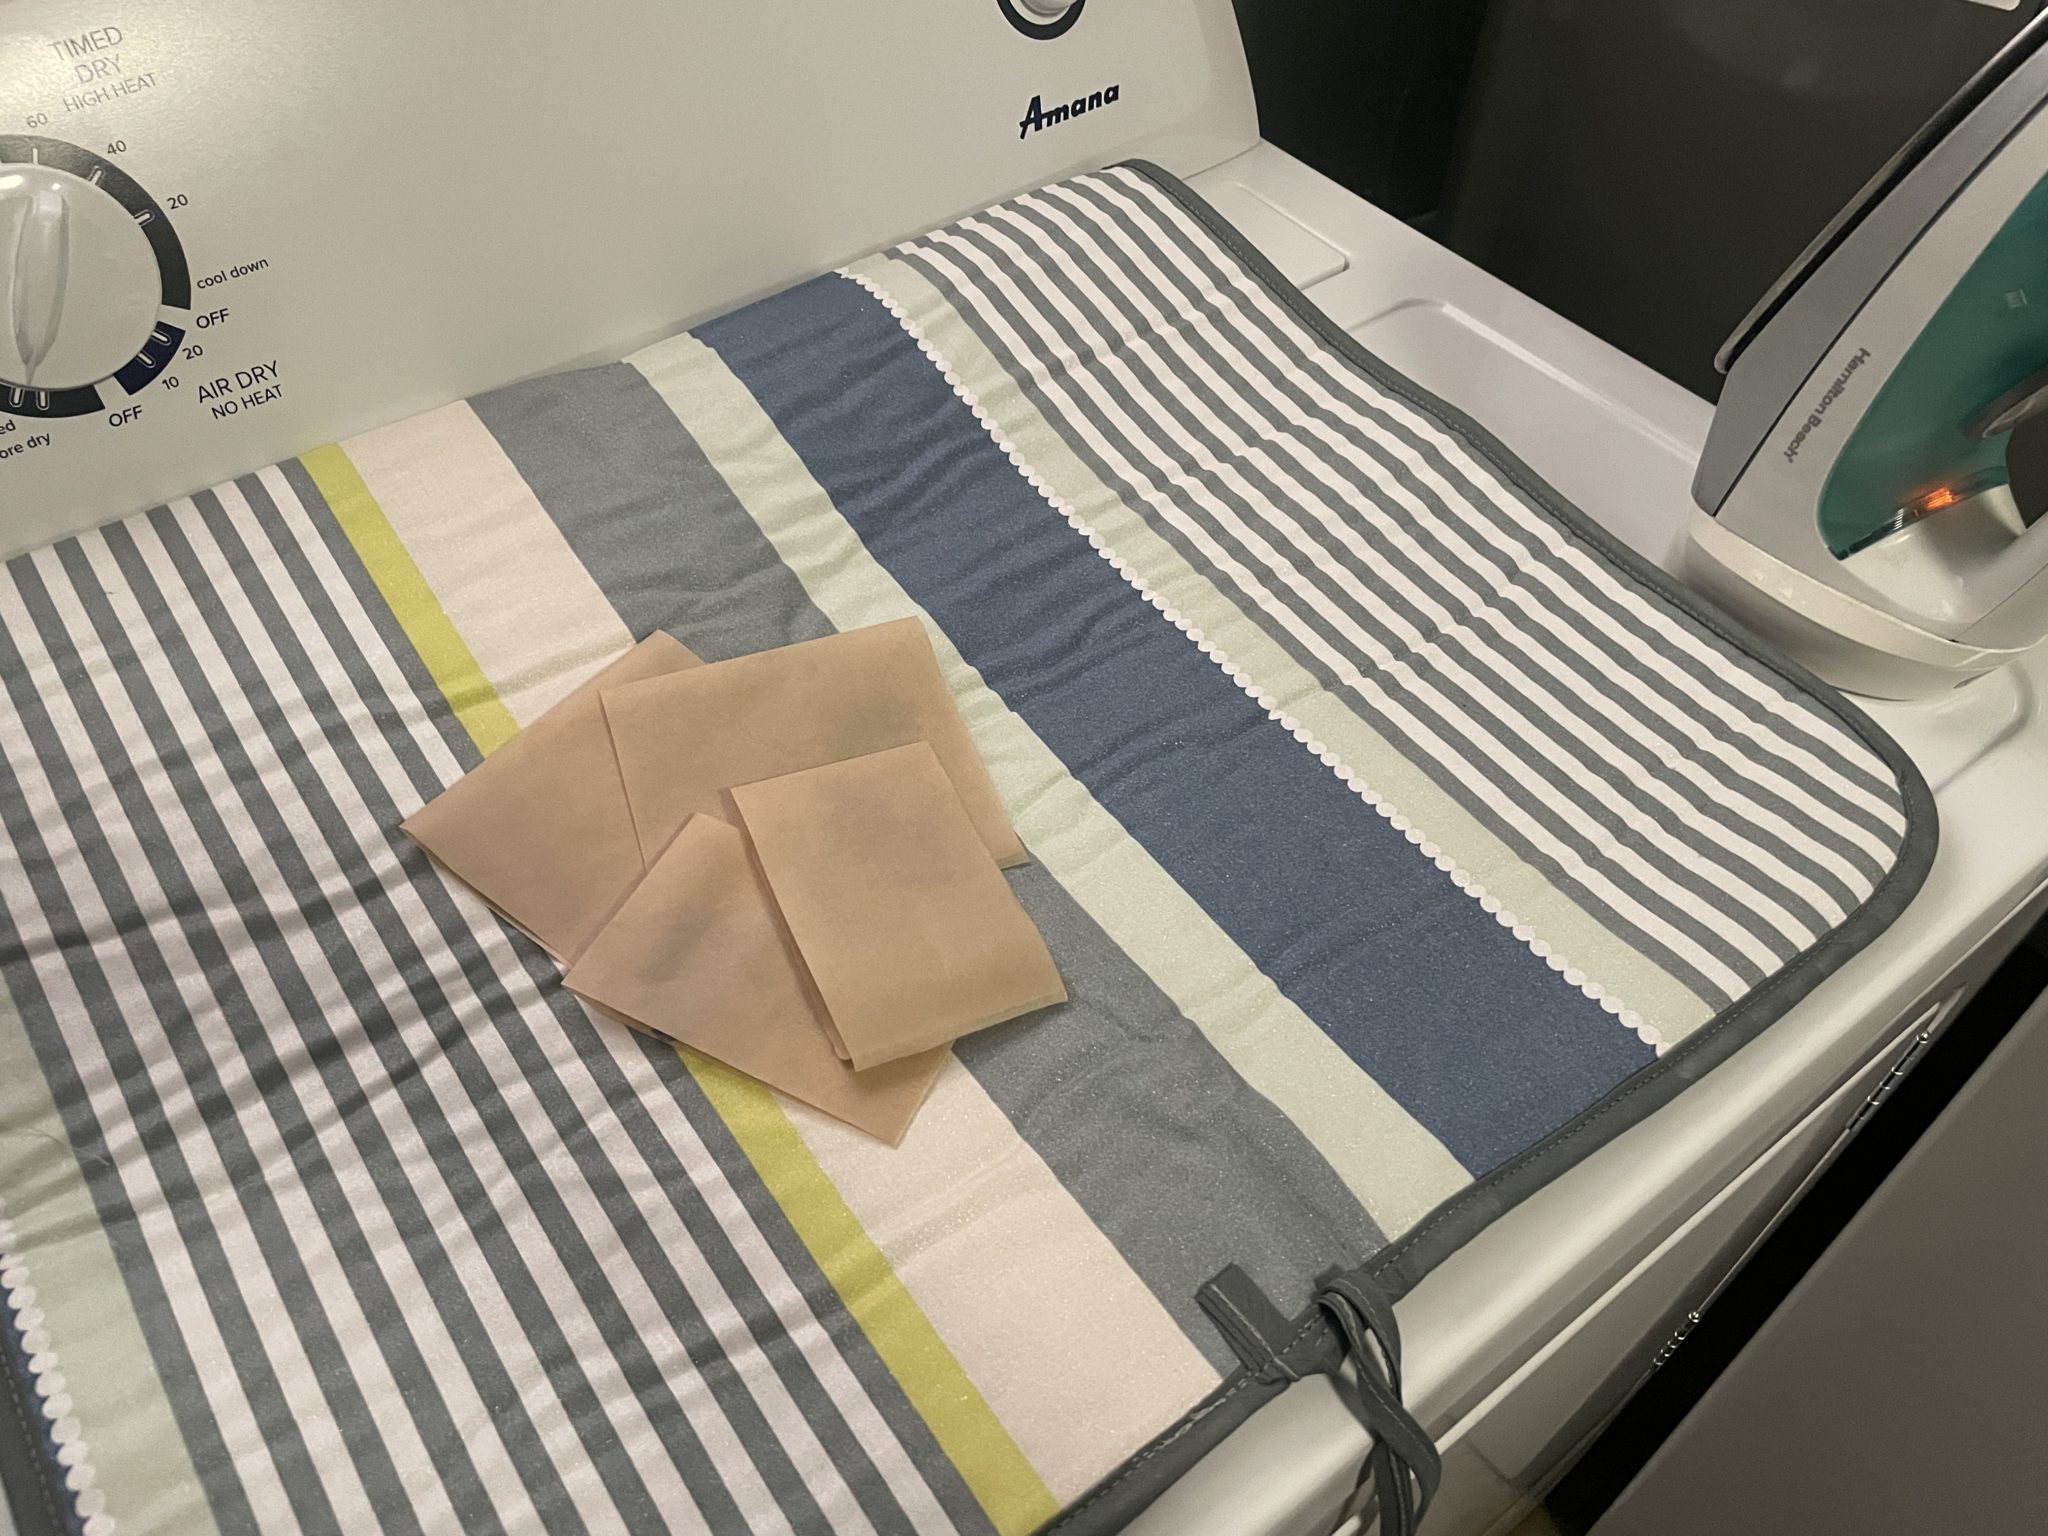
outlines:
[[860, 287], [698, 336], [983, 680], [1468, 1169], [1651, 1059], [1133, 592]]

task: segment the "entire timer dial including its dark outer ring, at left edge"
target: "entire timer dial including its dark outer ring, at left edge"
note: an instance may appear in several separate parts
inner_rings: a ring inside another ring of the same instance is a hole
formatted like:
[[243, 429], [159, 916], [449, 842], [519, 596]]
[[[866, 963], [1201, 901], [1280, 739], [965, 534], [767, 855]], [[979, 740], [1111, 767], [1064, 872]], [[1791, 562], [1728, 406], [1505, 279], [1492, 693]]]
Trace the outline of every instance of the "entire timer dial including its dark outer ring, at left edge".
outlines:
[[156, 383], [190, 330], [164, 209], [111, 160], [0, 135], [0, 412], [90, 416]]

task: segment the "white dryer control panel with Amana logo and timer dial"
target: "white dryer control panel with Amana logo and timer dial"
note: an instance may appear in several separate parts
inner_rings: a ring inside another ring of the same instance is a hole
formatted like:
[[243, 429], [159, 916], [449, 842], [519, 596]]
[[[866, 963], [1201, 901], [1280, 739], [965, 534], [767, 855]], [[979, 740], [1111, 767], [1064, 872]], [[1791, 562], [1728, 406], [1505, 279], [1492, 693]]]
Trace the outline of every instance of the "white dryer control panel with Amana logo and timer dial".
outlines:
[[1255, 137], [1229, 0], [12, 0], [0, 555]]

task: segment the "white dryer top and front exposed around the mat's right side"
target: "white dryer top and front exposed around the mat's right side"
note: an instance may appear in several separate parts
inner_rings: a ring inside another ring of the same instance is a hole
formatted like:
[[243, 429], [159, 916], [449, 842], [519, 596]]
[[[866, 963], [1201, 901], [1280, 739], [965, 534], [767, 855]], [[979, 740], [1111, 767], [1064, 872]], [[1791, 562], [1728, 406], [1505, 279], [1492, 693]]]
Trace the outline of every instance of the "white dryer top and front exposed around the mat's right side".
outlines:
[[[1712, 416], [1704, 399], [1272, 145], [1194, 186], [1343, 330], [1673, 565]], [[1939, 854], [1913, 905], [1733, 1061], [1399, 1305], [1407, 1401], [1444, 1448], [1423, 1536], [1491, 1536], [1528, 1511], [1839, 1145], [1868, 1092], [2048, 905], [2044, 686], [2048, 647], [1937, 700], [1866, 702], [1939, 807]], [[1135, 1530], [1327, 1532], [1366, 1444], [1329, 1382], [1298, 1382]]]

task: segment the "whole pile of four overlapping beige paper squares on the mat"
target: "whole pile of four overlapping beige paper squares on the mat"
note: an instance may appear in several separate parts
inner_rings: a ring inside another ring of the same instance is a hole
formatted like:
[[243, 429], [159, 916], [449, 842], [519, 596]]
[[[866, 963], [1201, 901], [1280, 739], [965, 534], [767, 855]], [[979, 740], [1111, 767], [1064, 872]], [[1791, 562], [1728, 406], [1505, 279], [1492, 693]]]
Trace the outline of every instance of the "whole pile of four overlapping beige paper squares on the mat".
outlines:
[[1067, 995], [915, 618], [651, 635], [406, 831], [594, 1008], [891, 1143], [952, 1040]]

